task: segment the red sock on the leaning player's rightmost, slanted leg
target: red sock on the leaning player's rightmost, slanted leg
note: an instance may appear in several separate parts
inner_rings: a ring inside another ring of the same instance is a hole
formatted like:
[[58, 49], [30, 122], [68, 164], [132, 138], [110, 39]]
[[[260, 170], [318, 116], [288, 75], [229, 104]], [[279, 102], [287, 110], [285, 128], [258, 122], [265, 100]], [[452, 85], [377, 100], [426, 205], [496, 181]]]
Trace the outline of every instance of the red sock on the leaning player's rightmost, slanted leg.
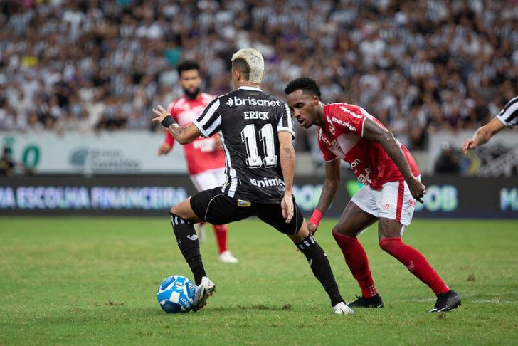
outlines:
[[440, 278], [439, 274], [430, 266], [430, 263], [426, 261], [425, 256], [412, 246], [403, 243], [401, 238], [381, 239], [379, 246], [403, 263], [408, 271], [428, 285], [436, 295], [446, 293], [450, 290], [443, 279]]

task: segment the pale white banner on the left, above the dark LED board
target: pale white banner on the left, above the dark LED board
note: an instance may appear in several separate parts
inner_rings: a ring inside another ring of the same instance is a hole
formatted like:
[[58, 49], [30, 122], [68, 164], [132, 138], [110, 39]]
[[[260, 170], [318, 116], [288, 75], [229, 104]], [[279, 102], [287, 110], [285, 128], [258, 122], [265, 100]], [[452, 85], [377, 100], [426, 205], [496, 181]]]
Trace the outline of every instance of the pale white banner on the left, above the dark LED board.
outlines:
[[158, 157], [164, 132], [0, 132], [18, 164], [36, 174], [186, 173], [184, 151], [175, 145]]

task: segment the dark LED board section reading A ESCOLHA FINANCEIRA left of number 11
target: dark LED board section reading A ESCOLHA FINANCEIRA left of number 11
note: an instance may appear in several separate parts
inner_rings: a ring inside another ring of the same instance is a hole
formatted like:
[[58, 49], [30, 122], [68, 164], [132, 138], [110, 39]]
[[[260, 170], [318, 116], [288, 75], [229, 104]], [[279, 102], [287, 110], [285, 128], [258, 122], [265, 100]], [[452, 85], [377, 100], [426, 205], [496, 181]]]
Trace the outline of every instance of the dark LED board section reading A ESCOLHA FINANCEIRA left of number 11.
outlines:
[[195, 191], [186, 175], [0, 178], [0, 214], [169, 215]]

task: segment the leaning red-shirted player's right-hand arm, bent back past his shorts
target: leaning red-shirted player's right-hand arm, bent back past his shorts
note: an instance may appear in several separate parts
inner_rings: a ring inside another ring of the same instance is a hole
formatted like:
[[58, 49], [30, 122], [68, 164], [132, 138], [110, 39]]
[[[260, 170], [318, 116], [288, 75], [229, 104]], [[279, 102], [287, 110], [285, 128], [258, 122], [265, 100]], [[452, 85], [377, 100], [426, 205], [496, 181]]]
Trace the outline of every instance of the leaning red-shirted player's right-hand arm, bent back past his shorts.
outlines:
[[363, 137], [372, 142], [378, 142], [381, 144], [388, 156], [396, 164], [401, 174], [403, 174], [403, 178], [405, 178], [406, 184], [408, 184], [408, 189], [410, 189], [413, 198], [423, 203], [422, 198], [426, 193], [426, 187], [413, 176], [410, 165], [408, 164], [408, 161], [406, 161], [405, 154], [403, 154], [403, 150], [401, 150], [400, 145], [396, 142], [396, 138], [394, 138], [392, 132], [367, 118], [364, 122]]

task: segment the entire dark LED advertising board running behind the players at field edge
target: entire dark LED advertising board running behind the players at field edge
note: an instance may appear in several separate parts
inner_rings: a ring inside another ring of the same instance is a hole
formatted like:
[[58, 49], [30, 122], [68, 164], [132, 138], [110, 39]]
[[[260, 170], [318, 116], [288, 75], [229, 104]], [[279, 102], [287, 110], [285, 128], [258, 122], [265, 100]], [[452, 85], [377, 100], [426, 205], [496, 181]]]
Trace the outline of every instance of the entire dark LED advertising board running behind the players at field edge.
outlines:
[[[322, 178], [295, 179], [297, 204], [310, 216]], [[518, 177], [423, 177], [425, 203], [415, 216], [518, 219]], [[361, 184], [342, 179], [326, 216], [338, 217]], [[0, 215], [169, 215], [196, 190], [186, 175], [0, 178]]]

